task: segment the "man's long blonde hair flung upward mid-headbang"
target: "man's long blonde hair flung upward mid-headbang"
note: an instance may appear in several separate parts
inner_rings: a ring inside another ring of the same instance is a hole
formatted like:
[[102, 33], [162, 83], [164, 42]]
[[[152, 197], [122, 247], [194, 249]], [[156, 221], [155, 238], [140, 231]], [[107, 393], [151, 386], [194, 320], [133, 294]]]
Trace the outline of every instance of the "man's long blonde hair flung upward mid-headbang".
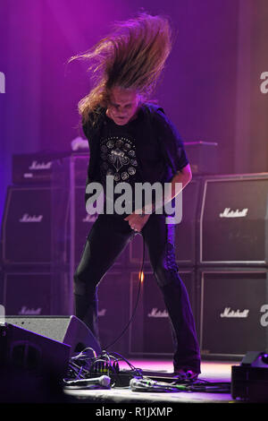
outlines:
[[78, 104], [82, 122], [98, 107], [107, 107], [109, 92], [114, 86], [137, 90], [147, 100], [172, 48], [169, 19], [139, 13], [137, 18], [116, 22], [113, 32], [85, 53], [72, 56], [89, 61], [88, 71], [94, 86]]

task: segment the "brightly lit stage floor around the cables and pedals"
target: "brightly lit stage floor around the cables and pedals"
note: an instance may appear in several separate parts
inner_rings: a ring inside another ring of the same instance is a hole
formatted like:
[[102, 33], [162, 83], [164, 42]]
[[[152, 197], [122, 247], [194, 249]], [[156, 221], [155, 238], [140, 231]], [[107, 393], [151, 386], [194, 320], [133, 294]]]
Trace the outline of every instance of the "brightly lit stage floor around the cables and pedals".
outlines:
[[[157, 372], [160, 374], [172, 373], [171, 360], [154, 359], [133, 359], [129, 360], [136, 368], [141, 368], [147, 372]], [[214, 362], [205, 361], [201, 364], [201, 374], [198, 381], [204, 382], [231, 382], [231, 365], [239, 365], [239, 362]], [[128, 366], [122, 366], [122, 369]], [[179, 404], [179, 403], [236, 403], [232, 400], [230, 393], [225, 392], [200, 392], [200, 391], [131, 391], [130, 387], [113, 387], [109, 390], [76, 390], [64, 391], [68, 396], [76, 397], [80, 402], [91, 403], [113, 403], [113, 404]]]

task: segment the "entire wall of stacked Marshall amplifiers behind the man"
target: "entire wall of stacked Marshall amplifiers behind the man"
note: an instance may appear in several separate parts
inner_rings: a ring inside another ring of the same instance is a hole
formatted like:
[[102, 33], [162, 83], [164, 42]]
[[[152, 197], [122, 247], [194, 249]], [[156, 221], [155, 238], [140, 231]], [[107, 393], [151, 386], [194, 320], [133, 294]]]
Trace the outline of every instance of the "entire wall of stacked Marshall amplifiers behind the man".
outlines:
[[[268, 173], [208, 174], [202, 156], [213, 157], [215, 144], [187, 148], [196, 170], [180, 193], [175, 257], [201, 354], [236, 359], [261, 352], [268, 348]], [[6, 314], [73, 314], [73, 272], [97, 218], [85, 209], [87, 169], [88, 152], [13, 157], [1, 234]], [[142, 257], [137, 234], [99, 284], [101, 344], [131, 357], [172, 356], [170, 320], [147, 247], [139, 282]]]

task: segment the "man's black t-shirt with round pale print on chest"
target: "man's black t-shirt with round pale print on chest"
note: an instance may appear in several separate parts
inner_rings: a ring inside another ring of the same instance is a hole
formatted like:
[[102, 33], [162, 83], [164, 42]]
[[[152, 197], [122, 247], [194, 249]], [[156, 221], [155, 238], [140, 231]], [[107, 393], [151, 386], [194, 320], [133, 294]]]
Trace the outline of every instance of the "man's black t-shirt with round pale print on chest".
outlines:
[[[121, 193], [106, 193], [106, 176], [113, 176], [113, 185], [128, 183], [131, 186], [132, 211], [135, 210], [135, 184], [171, 181], [172, 167], [179, 171], [188, 159], [176, 128], [161, 110], [153, 114], [151, 124], [139, 110], [138, 116], [127, 125], [116, 125], [105, 116], [98, 144], [98, 179], [105, 191], [105, 202], [115, 202]], [[153, 201], [155, 195], [153, 193]], [[126, 202], [125, 202], [126, 203]], [[145, 204], [144, 194], [142, 206]], [[125, 215], [125, 213], [123, 213]]]

